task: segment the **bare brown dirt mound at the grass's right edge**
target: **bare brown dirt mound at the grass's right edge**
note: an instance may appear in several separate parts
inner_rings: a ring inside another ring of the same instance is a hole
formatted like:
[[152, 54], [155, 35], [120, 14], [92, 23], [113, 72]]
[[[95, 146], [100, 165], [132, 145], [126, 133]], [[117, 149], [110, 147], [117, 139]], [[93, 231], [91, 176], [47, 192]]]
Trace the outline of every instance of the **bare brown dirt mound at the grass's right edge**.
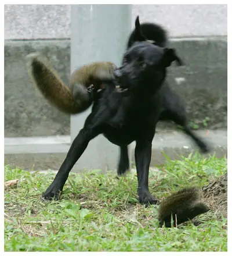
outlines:
[[204, 202], [220, 218], [227, 218], [227, 174], [202, 187]]

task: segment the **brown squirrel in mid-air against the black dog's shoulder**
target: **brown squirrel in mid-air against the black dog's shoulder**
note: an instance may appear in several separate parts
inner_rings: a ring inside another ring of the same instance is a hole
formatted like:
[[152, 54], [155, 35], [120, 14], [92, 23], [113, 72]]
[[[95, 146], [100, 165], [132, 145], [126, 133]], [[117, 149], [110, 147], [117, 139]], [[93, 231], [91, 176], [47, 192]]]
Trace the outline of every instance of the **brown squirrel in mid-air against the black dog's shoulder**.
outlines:
[[33, 52], [26, 56], [28, 74], [48, 101], [65, 113], [77, 114], [92, 104], [93, 96], [104, 81], [114, 79], [112, 62], [92, 62], [71, 74], [66, 85], [59, 78], [49, 60]]

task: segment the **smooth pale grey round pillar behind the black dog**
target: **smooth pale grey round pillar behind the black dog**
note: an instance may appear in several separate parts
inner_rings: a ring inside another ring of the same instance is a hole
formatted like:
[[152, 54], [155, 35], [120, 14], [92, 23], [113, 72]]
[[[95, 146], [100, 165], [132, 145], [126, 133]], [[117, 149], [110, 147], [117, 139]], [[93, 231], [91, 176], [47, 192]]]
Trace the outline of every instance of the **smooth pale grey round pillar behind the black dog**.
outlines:
[[[71, 6], [71, 72], [93, 61], [119, 65], [131, 31], [131, 5]], [[71, 141], [82, 129], [90, 109], [71, 116]], [[90, 141], [75, 170], [113, 170], [119, 150], [101, 135]]]

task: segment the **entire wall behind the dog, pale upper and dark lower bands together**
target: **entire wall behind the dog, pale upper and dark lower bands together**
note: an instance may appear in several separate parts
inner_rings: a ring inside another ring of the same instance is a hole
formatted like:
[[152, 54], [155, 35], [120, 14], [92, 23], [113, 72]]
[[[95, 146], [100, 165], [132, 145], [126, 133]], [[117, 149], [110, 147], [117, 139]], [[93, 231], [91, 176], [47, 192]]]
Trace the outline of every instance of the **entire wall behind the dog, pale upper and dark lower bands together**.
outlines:
[[[132, 27], [137, 15], [141, 22], [163, 24], [171, 37], [180, 38], [172, 44], [186, 67], [171, 68], [169, 80], [186, 99], [195, 127], [204, 127], [206, 117], [209, 128], [226, 127], [227, 5], [133, 5]], [[70, 117], [42, 98], [24, 65], [26, 54], [41, 51], [67, 81], [69, 37], [70, 5], [5, 5], [5, 136], [70, 134]]]

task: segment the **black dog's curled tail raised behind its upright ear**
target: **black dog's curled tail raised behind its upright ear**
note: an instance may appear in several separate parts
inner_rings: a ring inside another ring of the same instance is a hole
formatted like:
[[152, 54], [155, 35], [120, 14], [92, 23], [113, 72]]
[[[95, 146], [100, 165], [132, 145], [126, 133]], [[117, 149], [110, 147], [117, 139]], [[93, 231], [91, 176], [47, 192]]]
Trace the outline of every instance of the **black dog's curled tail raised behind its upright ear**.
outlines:
[[[159, 24], [155, 23], [142, 23], [140, 29], [148, 41], [151, 41], [159, 47], [166, 47], [168, 44], [168, 33]], [[129, 36], [127, 48], [131, 47], [136, 40], [136, 30], [134, 29]]]

